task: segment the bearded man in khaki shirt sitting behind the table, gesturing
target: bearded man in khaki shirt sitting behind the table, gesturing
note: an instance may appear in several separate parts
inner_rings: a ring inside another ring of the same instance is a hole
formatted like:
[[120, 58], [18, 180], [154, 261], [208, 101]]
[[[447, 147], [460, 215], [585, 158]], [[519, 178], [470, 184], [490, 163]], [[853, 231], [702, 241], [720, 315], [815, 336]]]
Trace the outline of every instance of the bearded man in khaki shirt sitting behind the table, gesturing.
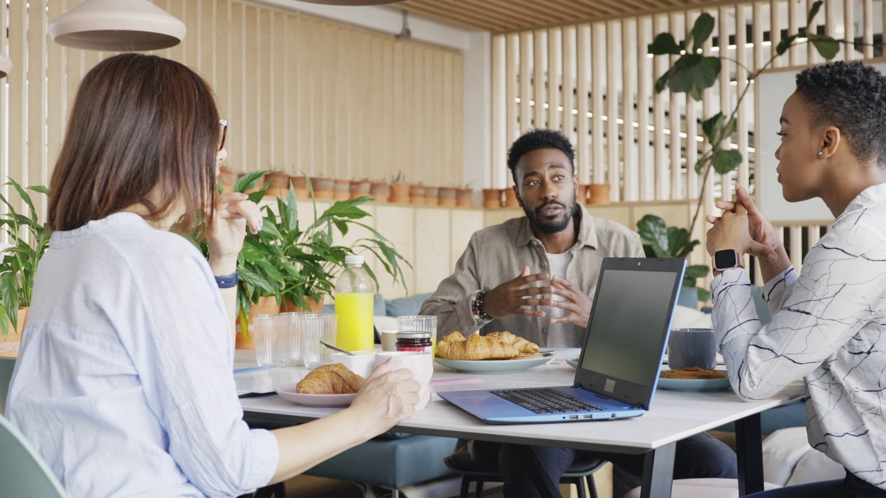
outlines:
[[[438, 335], [510, 331], [539, 346], [579, 347], [603, 258], [643, 257], [640, 237], [595, 218], [576, 202], [579, 189], [569, 139], [536, 129], [511, 145], [508, 167], [525, 217], [479, 230], [455, 273], [424, 302], [439, 317]], [[476, 460], [497, 458], [505, 496], [558, 496], [558, 483], [579, 452], [470, 441]], [[594, 454], [634, 476], [642, 455]], [[677, 443], [674, 479], [737, 476], [734, 452], [708, 434]]]

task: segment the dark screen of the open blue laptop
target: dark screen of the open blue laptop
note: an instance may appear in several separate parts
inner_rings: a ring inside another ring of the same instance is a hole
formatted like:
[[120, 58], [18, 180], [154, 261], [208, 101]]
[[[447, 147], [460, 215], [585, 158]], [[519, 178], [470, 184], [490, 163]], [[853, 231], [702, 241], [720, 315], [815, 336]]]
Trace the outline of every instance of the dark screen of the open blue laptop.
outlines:
[[648, 406], [684, 266], [681, 259], [604, 260], [576, 371], [578, 384]]

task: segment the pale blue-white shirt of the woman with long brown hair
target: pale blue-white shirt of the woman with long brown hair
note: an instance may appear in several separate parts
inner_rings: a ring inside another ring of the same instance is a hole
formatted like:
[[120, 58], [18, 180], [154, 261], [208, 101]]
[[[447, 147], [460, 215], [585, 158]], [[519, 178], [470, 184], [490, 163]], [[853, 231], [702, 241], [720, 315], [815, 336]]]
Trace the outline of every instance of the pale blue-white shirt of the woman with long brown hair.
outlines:
[[6, 416], [72, 498], [245, 494], [277, 444], [243, 422], [232, 348], [198, 249], [113, 214], [52, 234]]

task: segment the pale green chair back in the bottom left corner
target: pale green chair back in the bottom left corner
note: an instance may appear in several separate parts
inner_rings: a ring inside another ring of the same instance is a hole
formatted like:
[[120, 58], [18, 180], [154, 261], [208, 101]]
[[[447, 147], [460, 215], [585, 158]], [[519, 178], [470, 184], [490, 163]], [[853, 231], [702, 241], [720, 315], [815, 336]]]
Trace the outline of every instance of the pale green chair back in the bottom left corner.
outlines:
[[0, 416], [0, 489], [4, 496], [66, 497], [50, 468], [4, 416]]

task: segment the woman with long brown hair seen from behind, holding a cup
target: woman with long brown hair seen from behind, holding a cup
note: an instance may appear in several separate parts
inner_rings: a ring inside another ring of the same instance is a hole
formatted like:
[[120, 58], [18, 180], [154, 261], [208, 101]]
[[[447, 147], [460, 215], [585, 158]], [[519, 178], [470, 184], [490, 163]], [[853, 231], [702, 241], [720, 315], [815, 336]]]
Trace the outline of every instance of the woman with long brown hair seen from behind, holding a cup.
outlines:
[[[261, 217], [243, 194], [216, 195], [226, 126], [206, 82], [171, 60], [118, 55], [81, 83], [6, 405], [72, 497], [245, 494], [415, 409], [412, 374], [383, 365], [335, 415], [243, 422], [235, 270]], [[198, 223], [209, 261], [170, 231]]]

